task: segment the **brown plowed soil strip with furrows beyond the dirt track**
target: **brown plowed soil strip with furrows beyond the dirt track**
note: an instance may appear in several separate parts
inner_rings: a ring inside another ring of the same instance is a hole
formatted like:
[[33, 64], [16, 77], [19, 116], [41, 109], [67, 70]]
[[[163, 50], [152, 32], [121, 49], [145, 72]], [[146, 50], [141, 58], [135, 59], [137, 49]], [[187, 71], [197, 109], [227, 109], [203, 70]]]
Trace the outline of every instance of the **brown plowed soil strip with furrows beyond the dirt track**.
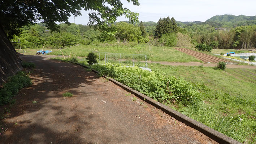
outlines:
[[217, 58], [214, 57], [212, 55], [208, 55], [208, 54], [204, 54], [204, 53], [200, 53], [194, 50], [190, 50], [190, 49], [186, 49], [186, 48], [175, 48], [178, 51], [181, 51], [183, 53], [192, 55], [200, 60], [202, 60], [203, 62], [211, 62], [211, 63], [218, 63], [218, 62], [231, 62], [234, 63], [230, 60], [226, 60], [226, 59], [221, 59], [221, 58]]

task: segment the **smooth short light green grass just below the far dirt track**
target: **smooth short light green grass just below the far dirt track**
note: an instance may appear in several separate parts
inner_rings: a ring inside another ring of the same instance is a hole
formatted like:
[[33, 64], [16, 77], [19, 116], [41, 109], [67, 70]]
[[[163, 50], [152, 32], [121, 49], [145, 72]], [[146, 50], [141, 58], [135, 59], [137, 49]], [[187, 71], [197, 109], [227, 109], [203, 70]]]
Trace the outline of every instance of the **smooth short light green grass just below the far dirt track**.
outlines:
[[212, 67], [160, 64], [149, 64], [149, 68], [164, 72], [166, 76], [184, 77], [187, 81], [205, 84], [213, 91], [219, 90], [231, 96], [243, 94], [246, 100], [253, 99], [256, 102], [256, 69], [226, 68], [221, 71]]

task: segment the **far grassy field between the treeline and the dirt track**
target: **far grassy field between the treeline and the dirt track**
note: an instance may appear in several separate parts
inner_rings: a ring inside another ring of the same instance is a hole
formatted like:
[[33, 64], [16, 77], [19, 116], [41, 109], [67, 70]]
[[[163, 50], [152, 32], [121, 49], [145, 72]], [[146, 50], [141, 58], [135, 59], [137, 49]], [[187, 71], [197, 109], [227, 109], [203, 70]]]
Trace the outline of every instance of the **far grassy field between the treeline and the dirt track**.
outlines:
[[[26, 51], [24, 54], [35, 54], [37, 50], [42, 49], [22, 49]], [[62, 55], [60, 50], [56, 49], [45, 49], [52, 50], [51, 55]], [[133, 48], [125, 46], [108, 46], [108, 45], [78, 45], [70, 48], [62, 49], [64, 55], [70, 53], [75, 54], [79, 57], [86, 56], [90, 51], [99, 51], [102, 53], [123, 53], [123, 54], [146, 54], [149, 61], [166, 61], [166, 62], [202, 62], [201, 60], [177, 51], [170, 47], [165, 46], [149, 46], [149, 45], [135, 45]], [[22, 53], [22, 51], [21, 51]]]

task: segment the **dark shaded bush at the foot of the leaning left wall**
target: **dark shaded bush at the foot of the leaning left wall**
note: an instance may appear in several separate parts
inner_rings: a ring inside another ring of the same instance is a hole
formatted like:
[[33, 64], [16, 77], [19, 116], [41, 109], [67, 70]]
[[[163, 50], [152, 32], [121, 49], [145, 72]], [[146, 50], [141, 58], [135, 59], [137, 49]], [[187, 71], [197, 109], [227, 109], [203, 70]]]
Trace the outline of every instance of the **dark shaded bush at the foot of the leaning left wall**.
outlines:
[[12, 103], [12, 97], [17, 95], [20, 89], [31, 84], [31, 80], [25, 72], [20, 71], [10, 77], [0, 89], [0, 105]]

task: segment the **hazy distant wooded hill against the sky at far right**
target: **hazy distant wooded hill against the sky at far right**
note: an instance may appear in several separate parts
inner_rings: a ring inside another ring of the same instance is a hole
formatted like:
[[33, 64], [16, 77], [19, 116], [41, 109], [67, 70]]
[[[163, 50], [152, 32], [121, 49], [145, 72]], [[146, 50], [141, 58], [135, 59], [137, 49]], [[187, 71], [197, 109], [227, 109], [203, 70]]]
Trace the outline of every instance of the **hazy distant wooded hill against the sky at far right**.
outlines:
[[255, 21], [255, 16], [246, 16], [246, 15], [231, 15], [231, 14], [224, 14], [224, 15], [215, 15], [214, 17], [206, 20], [205, 22], [238, 22], [238, 21]]

